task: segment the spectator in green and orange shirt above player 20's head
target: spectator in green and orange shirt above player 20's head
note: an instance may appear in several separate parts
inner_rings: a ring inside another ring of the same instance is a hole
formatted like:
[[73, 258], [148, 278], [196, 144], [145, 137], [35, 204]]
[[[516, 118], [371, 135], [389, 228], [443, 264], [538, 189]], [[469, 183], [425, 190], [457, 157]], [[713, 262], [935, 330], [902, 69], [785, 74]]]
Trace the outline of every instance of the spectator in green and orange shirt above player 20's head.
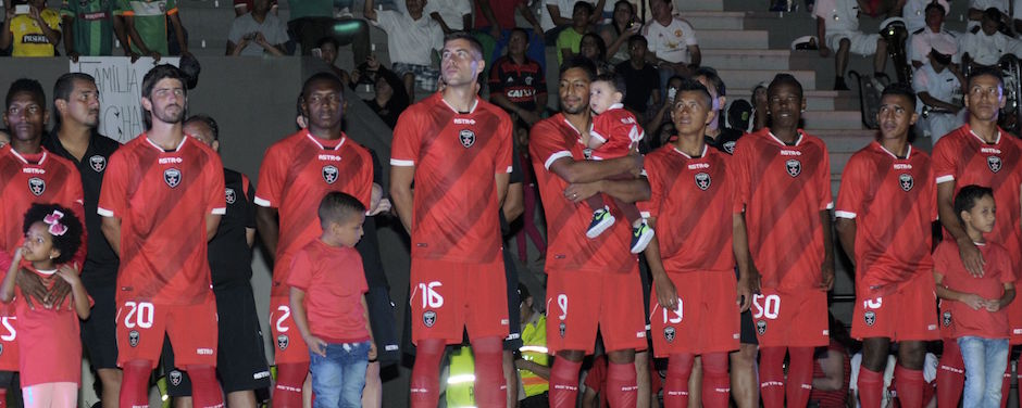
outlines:
[[157, 61], [160, 61], [163, 55], [169, 55], [166, 25], [170, 22], [180, 47], [180, 54], [191, 54], [188, 52], [188, 41], [185, 40], [185, 27], [182, 26], [180, 16], [177, 15], [176, 0], [119, 1], [130, 39], [132, 52], [151, 56]]

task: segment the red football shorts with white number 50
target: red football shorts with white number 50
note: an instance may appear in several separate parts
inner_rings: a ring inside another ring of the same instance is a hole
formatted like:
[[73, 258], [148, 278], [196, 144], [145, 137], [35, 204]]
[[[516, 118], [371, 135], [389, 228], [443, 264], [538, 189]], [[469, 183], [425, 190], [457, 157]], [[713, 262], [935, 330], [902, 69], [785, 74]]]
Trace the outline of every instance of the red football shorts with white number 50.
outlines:
[[752, 323], [760, 347], [827, 345], [826, 292], [815, 288], [783, 293], [763, 288], [752, 295]]

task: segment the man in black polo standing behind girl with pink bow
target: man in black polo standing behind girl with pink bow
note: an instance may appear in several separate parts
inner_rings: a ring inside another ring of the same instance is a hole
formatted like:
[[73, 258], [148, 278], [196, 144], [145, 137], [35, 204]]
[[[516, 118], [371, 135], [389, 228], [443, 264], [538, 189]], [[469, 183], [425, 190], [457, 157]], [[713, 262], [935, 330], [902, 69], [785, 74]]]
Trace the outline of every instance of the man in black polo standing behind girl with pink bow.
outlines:
[[85, 190], [85, 228], [88, 231], [89, 250], [82, 268], [82, 282], [95, 304], [89, 319], [82, 321], [82, 343], [92, 368], [99, 374], [103, 407], [115, 408], [121, 392], [117, 335], [114, 330], [120, 259], [103, 238], [102, 217], [96, 213], [96, 206], [107, 163], [121, 143], [97, 130], [99, 91], [92, 76], [70, 73], [58, 78], [53, 85], [53, 107], [59, 115], [58, 126], [43, 138], [42, 145], [78, 168]]

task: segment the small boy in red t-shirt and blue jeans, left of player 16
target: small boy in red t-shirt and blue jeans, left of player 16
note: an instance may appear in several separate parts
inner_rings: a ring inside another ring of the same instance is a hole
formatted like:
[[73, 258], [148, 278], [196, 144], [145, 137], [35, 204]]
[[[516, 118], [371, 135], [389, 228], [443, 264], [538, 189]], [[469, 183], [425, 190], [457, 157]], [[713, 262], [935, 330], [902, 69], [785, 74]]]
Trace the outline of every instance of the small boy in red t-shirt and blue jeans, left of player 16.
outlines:
[[362, 404], [365, 368], [376, 357], [365, 304], [365, 273], [354, 244], [362, 238], [365, 206], [342, 192], [320, 202], [323, 234], [291, 263], [291, 314], [309, 345], [316, 406]]

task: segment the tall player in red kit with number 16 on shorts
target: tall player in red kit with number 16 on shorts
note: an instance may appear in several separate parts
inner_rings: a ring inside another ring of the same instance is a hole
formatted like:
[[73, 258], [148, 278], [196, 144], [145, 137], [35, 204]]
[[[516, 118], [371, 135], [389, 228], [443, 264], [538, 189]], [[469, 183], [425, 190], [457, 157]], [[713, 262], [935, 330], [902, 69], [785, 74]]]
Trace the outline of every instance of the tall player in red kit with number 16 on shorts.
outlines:
[[447, 87], [404, 111], [390, 151], [390, 196], [412, 243], [411, 406], [436, 406], [444, 346], [460, 343], [465, 329], [475, 357], [475, 400], [506, 406], [508, 292], [499, 211], [511, 173], [511, 117], [476, 94], [485, 62], [475, 38], [453, 33], [440, 55]]

